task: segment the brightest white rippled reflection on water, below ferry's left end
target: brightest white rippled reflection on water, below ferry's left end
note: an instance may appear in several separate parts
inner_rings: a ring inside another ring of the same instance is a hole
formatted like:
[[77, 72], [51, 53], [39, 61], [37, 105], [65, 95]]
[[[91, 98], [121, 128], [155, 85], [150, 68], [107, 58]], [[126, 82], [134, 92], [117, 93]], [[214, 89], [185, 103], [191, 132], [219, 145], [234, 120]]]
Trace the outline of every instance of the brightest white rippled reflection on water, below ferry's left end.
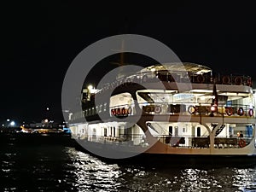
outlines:
[[78, 191], [118, 191], [121, 183], [117, 182], [121, 171], [119, 166], [108, 165], [101, 160], [69, 148], [73, 164], [68, 164], [72, 171], [69, 174], [75, 175], [75, 187]]

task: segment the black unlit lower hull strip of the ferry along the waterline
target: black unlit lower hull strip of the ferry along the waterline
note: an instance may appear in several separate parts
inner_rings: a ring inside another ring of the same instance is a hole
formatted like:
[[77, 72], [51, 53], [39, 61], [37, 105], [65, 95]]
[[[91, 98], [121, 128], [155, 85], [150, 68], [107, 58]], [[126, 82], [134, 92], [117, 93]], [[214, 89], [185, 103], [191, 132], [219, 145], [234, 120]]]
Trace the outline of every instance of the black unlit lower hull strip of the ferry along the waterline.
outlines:
[[[119, 165], [139, 165], [147, 167], [251, 167], [256, 165], [256, 155], [248, 154], [131, 154], [127, 158], [108, 158], [84, 148], [77, 143], [76, 148], [96, 156], [108, 163]], [[113, 152], [113, 151], [112, 151]], [[108, 152], [105, 148], [105, 153]]]

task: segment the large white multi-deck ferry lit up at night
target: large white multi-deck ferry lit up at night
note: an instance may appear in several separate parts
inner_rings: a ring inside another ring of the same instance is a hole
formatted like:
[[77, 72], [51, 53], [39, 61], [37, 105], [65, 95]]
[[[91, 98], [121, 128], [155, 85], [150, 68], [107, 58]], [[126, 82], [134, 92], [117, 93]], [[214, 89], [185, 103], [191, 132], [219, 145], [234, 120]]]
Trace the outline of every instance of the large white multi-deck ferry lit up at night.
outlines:
[[256, 162], [252, 79], [195, 63], [182, 67], [145, 67], [101, 89], [84, 89], [83, 110], [69, 115], [73, 137], [85, 148], [108, 145], [166, 163]]

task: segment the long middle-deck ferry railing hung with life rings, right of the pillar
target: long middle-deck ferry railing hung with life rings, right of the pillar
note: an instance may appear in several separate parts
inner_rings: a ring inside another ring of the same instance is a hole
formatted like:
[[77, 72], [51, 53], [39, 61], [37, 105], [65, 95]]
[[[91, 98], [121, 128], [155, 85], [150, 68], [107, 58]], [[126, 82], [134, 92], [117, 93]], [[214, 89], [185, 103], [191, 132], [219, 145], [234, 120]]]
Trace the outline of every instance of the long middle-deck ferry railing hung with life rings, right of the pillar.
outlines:
[[149, 114], [187, 114], [187, 115], [213, 115], [213, 116], [241, 116], [255, 117], [254, 107], [241, 104], [218, 104], [212, 108], [209, 102], [189, 103], [166, 103], [166, 102], [143, 102], [139, 103], [144, 113]]

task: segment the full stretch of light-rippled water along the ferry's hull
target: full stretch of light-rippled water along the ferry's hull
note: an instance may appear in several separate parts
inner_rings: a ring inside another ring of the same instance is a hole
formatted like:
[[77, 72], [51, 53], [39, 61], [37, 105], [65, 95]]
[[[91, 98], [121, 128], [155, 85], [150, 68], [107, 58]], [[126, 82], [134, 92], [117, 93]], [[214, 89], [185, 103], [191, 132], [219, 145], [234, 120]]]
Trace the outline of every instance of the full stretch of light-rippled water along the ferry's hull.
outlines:
[[256, 169], [147, 168], [108, 165], [69, 150], [78, 191], [255, 191]]

